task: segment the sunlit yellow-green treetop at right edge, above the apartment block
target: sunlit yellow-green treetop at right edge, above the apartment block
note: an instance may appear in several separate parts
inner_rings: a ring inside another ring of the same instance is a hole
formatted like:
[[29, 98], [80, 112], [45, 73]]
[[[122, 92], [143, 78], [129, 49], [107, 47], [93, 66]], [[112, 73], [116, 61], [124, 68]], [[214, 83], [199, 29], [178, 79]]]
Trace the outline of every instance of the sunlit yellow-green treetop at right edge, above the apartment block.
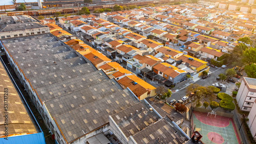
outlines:
[[256, 63], [256, 47], [250, 47], [250, 49], [245, 50], [242, 60], [245, 64], [249, 65]]

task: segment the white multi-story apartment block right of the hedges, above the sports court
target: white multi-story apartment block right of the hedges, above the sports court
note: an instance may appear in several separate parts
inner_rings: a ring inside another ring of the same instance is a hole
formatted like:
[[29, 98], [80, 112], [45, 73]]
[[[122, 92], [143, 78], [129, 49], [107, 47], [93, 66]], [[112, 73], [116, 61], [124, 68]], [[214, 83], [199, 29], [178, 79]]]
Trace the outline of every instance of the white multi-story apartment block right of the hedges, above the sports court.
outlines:
[[250, 111], [256, 100], [256, 79], [244, 77], [236, 99], [240, 110]]

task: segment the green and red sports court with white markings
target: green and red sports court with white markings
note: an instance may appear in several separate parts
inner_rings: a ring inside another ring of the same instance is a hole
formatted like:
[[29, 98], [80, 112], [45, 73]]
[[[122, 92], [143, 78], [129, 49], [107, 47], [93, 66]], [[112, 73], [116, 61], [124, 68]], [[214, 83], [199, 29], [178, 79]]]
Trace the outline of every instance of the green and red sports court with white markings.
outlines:
[[[193, 129], [203, 137], [204, 143], [241, 143], [233, 119], [229, 117], [211, 115], [204, 112], [193, 111]], [[212, 139], [213, 138], [213, 139]]]

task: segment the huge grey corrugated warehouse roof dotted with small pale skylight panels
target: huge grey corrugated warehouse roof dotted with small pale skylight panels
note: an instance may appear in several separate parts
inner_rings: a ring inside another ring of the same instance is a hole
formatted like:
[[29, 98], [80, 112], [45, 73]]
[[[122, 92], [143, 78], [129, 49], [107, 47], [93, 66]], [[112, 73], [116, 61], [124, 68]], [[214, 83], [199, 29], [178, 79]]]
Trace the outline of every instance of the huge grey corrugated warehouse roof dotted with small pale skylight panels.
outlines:
[[2, 40], [67, 142], [135, 105], [132, 93], [51, 34]]

